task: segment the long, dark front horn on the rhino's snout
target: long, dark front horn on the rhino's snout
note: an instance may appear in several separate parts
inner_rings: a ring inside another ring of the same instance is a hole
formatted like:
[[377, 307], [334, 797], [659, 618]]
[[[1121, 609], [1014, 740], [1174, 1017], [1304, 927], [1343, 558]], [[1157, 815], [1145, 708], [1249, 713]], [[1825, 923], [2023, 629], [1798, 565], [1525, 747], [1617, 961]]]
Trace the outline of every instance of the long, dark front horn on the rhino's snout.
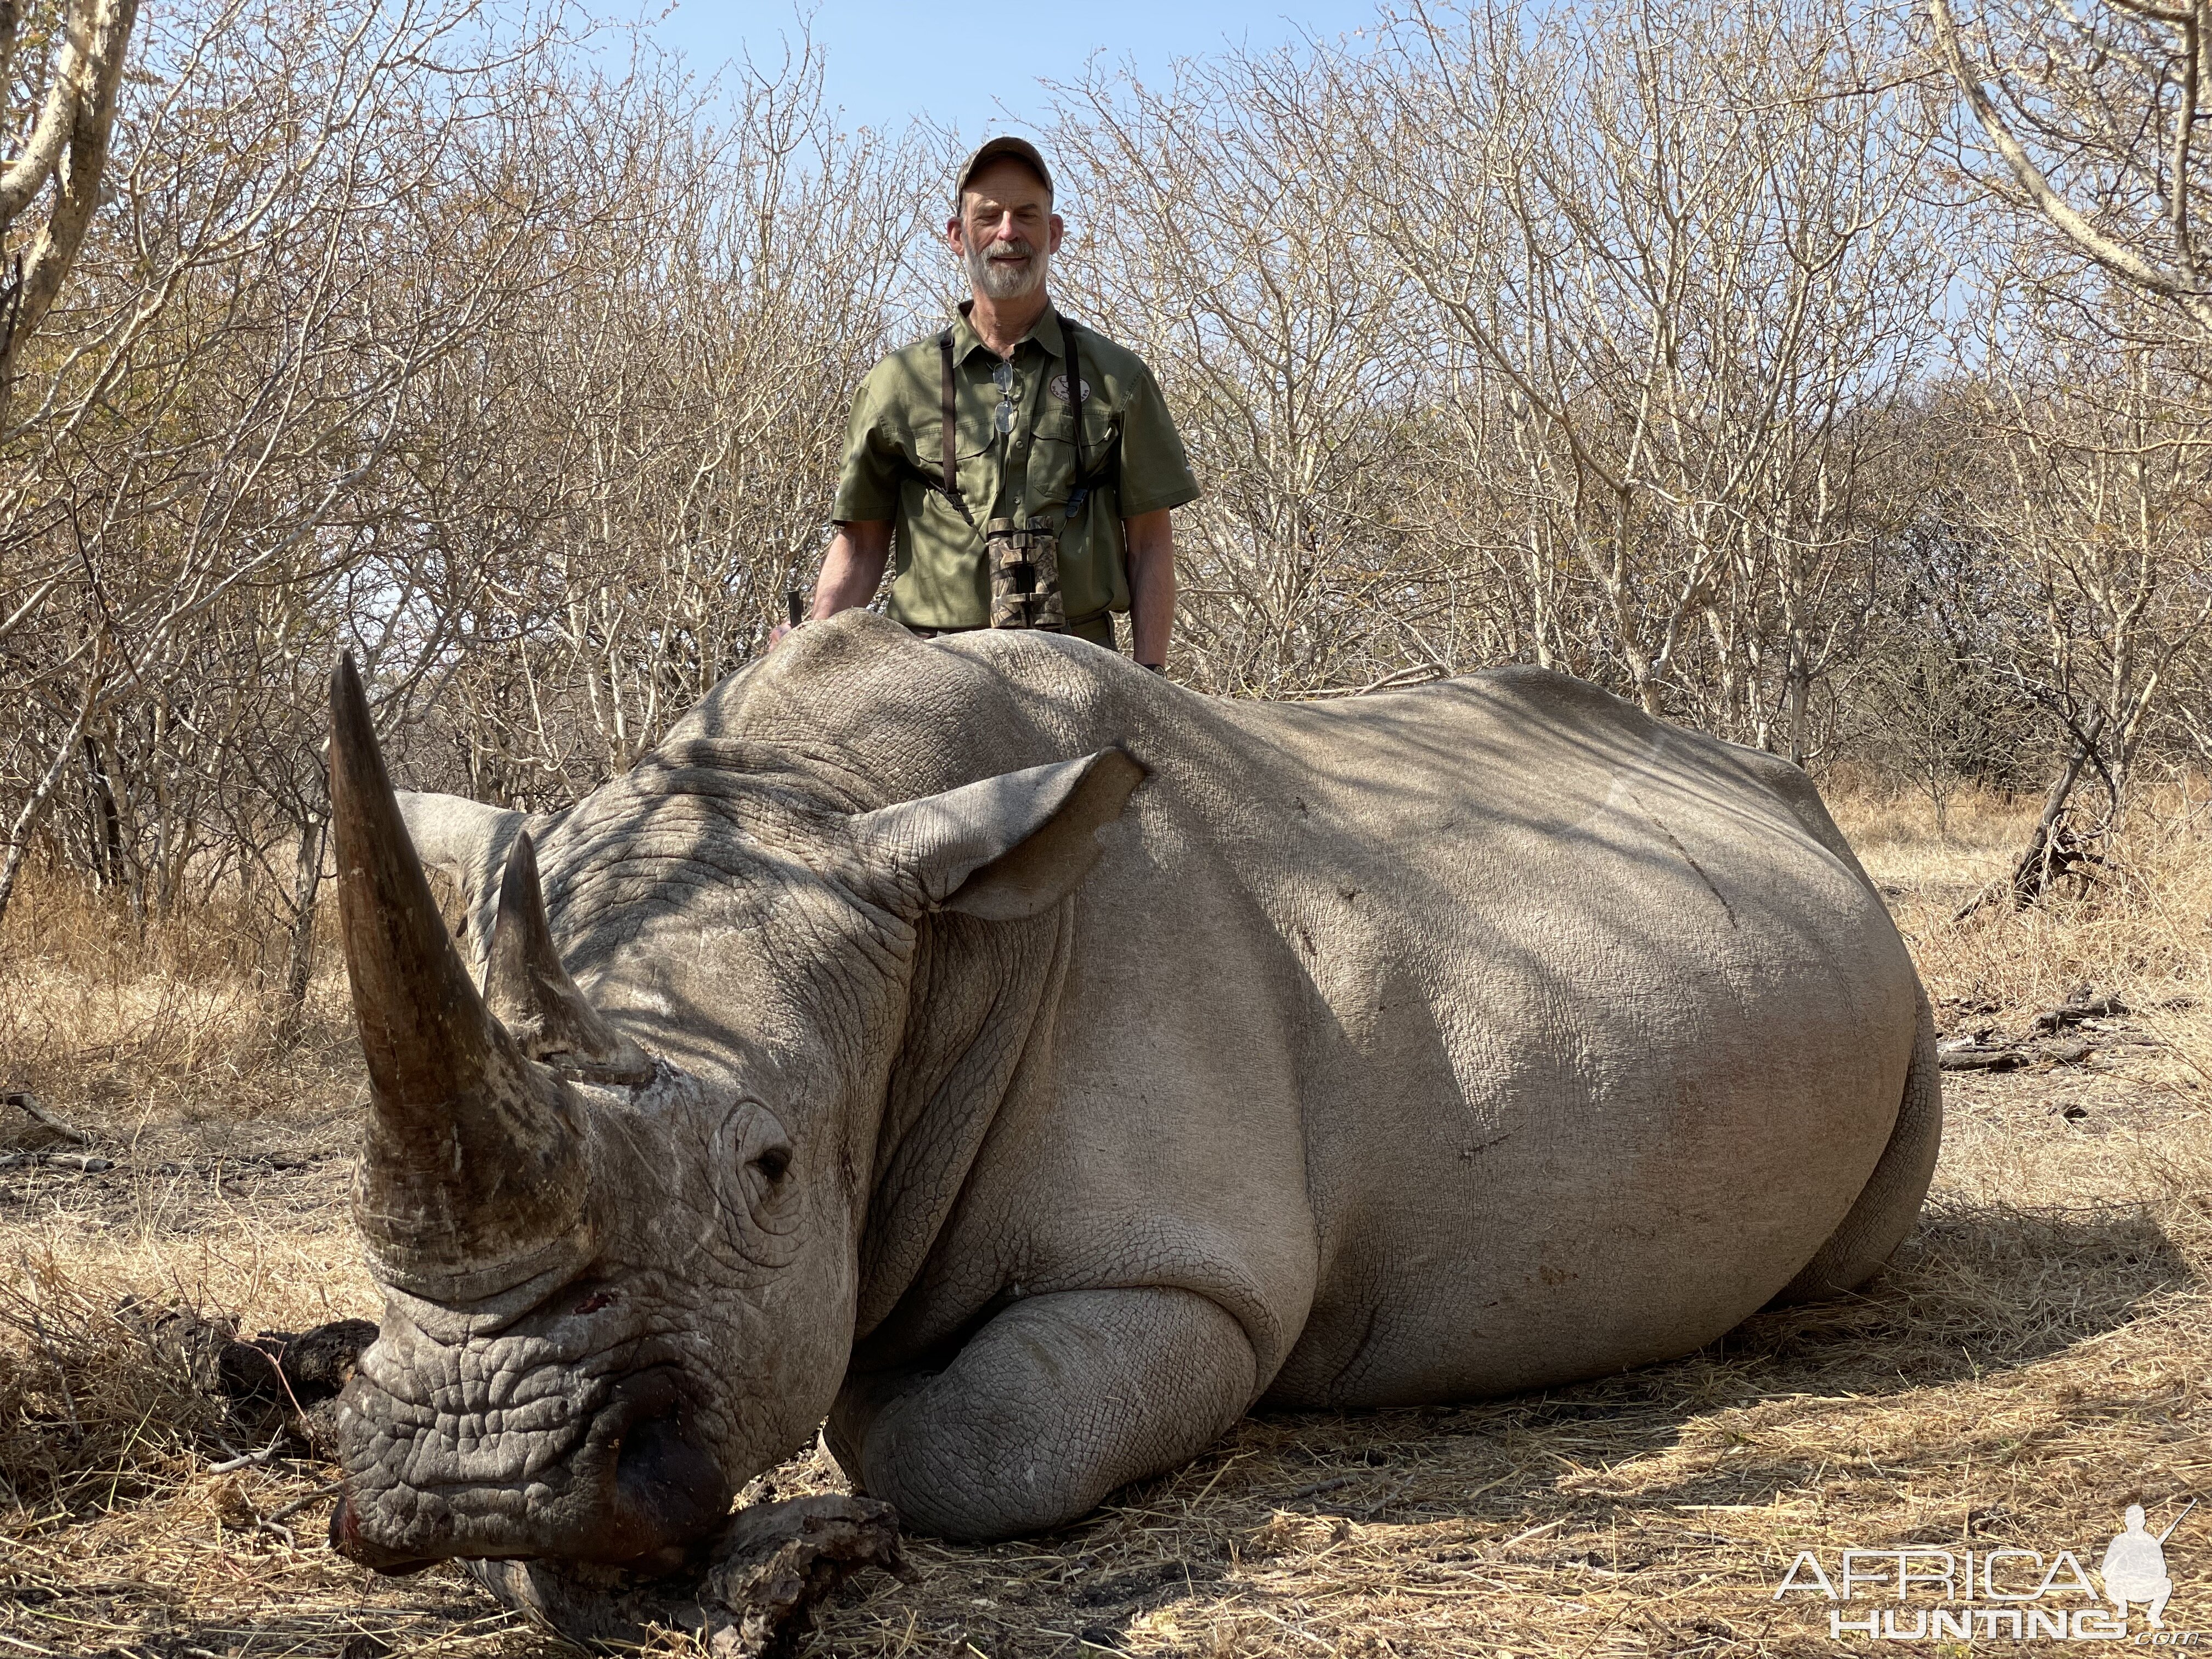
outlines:
[[584, 1113], [476, 993], [376, 748], [352, 655], [330, 681], [330, 821], [369, 1133], [354, 1214], [383, 1276], [489, 1296], [588, 1250]]

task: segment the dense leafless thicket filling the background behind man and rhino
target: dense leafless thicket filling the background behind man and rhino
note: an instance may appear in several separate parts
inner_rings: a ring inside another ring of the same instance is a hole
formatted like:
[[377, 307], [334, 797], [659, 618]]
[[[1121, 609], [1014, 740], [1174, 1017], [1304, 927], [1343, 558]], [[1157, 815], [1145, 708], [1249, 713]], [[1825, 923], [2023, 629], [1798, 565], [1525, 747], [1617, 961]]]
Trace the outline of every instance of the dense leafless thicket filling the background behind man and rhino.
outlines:
[[[77, 241], [7, 361], [0, 909], [35, 847], [144, 911], [239, 894], [279, 1035], [334, 653], [418, 783], [613, 776], [761, 650], [854, 385], [942, 301], [945, 157], [845, 133], [810, 46], [723, 95], [538, 2], [148, 13], [88, 217], [18, 221]], [[1982, 122], [2004, 201], [1940, 206], [1949, 80], [1845, 0], [1440, 0], [1057, 88], [1057, 292], [1155, 365], [1206, 489], [1177, 670], [1314, 697], [1535, 661], [1805, 763], [1856, 743], [1938, 812], [2004, 745], [2064, 783], [2024, 867], [2097, 852], [2212, 655], [2205, 358], [2170, 327], [2197, 208], [2159, 195], [2197, 177], [2194, 71], [2143, 42], [2203, 46], [2179, 0], [2079, 13], [2135, 42], [2081, 80], [1991, 60], [2042, 18], [2000, 4], [1938, 18], [1973, 108], [2166, 288], [2048, 232]]]

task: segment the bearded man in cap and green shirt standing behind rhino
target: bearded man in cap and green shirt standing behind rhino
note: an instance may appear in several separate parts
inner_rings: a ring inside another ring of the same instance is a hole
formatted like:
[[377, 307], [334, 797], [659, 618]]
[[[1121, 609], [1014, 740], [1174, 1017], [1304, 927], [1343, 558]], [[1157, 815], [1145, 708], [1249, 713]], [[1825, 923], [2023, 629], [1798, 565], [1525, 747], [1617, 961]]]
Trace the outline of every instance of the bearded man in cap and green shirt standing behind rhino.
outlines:
[[860, 383], [812, 619], [867, 604], [896, 551], [889, 615], [916, 633], [1064, 628], [1113, 650], [1126, 611], [1133, 655], [1166, 672], [1168, 515], [1199, 487], [1150, 369], [1053, 310], [1062, 234], [1033, 144], [998, 137], [960, 168], [945, 241], [971, 299]]

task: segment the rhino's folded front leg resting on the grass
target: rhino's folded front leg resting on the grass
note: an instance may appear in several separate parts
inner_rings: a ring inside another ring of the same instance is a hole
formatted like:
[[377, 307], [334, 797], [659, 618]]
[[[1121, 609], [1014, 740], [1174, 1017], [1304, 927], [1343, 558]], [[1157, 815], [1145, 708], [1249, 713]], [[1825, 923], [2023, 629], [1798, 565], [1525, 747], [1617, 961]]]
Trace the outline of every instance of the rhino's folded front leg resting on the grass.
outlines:
[[936, 1376], [847, 1385], [832, 1449], [925, 1533], [1013, 1537], [1188, 1462], [1256, 1387], [1252, 1343], [1188, 1290], [1013, 1303]]

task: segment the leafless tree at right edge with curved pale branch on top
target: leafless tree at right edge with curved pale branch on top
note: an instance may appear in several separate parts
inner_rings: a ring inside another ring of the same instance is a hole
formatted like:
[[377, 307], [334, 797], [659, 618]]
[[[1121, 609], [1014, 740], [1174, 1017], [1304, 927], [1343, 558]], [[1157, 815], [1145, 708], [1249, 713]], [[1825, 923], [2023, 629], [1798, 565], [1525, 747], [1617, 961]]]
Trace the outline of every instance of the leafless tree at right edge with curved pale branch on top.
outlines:
[[[2006, 889], [2026, 905], [2110, 847], [2205, 624], [2212, 9], [1933, 0], [1931, 22], [1971, 117], [1962, 170], [2017, 230], [1984, 276], [2006, 467], [1982, 515], [2037, 622], [2013, 672], [2064, 734]], [[2104, 805], [2084, 823], [2088, 779]]]

